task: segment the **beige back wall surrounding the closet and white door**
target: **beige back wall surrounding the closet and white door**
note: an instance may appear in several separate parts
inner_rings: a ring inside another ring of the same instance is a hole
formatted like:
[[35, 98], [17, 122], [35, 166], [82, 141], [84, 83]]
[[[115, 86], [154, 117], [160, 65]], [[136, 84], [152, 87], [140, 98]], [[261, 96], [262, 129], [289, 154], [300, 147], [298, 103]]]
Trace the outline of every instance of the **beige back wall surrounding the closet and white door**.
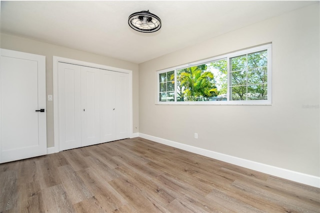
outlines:
[[[53, 94], [52, 58], [54, 56], [66, 57], [91, 63], [97, 63], [117, 68], [132, 70], [132, 106], [133, 106], [133, 133], [138, 131], [138, 65], [135, 63], [96, 55], [76, 49], [40, 42], [24, 37], [0, 34], [0, 47], [16, 51], [45, 55], [46, 94]], [[54, 99], [54, 97], [53, 97]], [[53, 101], [46, 101], [46, 128], [47, 147], [54, 146], [53, 138]]]

